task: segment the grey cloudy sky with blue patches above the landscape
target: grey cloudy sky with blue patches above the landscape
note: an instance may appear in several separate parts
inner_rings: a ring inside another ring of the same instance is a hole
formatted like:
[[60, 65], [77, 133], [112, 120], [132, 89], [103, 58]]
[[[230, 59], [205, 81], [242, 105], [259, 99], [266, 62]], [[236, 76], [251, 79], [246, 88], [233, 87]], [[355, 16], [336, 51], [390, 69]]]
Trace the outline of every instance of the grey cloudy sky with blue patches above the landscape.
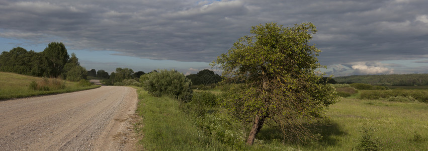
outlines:
[[426, 0], [3, 0], [0, 51], [58, 41], [88, 70], [195, 73], [251, 26], [312, 22], [328, 74], [428, 73], [426, 8]]

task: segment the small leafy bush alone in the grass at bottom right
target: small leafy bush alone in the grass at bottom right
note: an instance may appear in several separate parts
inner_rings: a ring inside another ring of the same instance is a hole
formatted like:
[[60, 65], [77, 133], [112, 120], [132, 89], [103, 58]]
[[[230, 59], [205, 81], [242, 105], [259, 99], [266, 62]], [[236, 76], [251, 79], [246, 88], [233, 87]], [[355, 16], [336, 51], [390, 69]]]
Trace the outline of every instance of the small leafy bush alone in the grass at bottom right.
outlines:
[[373, 128], [365, 128], [361, 130], [361, 137], [358, 140], [357, 150], [381, 150], [379, 138], [374, 135]]

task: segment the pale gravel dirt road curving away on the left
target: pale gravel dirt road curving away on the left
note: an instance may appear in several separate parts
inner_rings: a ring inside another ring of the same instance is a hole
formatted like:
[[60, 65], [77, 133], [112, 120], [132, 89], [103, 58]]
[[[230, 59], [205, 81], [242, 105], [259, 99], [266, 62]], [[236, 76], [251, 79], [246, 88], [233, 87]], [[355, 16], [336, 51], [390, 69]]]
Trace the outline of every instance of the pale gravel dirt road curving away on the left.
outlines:
[[135, 89], [108, 87], [0, 102], [0, 150], [134, 150]]

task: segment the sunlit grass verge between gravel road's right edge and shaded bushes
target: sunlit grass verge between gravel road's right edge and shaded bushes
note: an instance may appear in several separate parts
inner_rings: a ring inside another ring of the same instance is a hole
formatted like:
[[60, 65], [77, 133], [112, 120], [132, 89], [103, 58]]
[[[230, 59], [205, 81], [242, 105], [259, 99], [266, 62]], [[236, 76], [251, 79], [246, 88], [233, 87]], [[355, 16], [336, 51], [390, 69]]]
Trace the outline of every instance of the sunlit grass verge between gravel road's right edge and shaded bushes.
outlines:
[[[152, 97], [138, 89], [140, 102], [137, 113], [143, 121], [137, 123], [143, 139], [138, 143], [146, 150], [227, 150], [227, 147], [207, 137], [195, 125], [195, 118], [180, 110], [180, 103], [168, 97]], [[139, 126], [144, 124], [144, 126]]]

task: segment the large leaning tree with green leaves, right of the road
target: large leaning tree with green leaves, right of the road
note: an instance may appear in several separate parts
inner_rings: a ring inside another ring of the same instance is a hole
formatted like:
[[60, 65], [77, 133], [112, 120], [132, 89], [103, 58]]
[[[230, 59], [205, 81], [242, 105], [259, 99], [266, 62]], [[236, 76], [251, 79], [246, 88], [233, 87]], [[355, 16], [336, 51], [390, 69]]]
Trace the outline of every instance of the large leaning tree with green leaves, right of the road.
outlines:
[[252, 144], [265, 121], [272, 121], [289, 137], [310, 135], [307, 119], [322, 118], [322, 111], [337, 101], [334, 88], [319, 84], [320, 52], [309, 44], [316, 28], [302, 23], [284, 28], [276, 23], [252, 27], [253, 36], [241, 37], [218, 65], [233, 85], [225, 95], [226, 107], [252, 127], [246, 143]]

